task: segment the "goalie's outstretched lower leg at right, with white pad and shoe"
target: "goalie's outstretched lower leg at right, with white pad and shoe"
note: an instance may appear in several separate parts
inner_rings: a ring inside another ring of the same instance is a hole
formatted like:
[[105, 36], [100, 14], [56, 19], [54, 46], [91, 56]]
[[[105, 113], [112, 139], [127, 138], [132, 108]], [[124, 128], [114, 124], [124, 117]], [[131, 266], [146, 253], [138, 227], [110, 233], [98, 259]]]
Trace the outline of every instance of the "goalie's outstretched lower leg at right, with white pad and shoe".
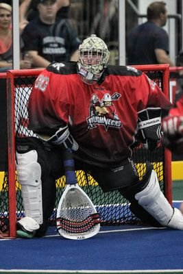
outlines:
[[141, 220], [156, 227], [162, 225], [182, 230], [182, 213], [176, 208], [173, 209], [164, 197], [156, 172], [149, 162], [146, 170], [143, 180], [121, 189], [121, 194], [131, 202], [134, 214], [137, 212]]

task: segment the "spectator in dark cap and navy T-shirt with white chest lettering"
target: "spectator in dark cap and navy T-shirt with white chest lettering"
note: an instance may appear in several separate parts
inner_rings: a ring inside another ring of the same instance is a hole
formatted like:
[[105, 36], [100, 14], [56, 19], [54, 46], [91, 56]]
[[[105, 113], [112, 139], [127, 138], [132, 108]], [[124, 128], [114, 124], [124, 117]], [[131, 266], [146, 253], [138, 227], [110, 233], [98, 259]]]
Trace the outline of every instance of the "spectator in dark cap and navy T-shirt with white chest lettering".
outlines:
[[76, 61], [80, 40], [64, 18], [58, 18], [56, 0], [36, 0], [39, 12], [22, 33], [24, 50], [32, 56], [34, 67], [51, 62]]

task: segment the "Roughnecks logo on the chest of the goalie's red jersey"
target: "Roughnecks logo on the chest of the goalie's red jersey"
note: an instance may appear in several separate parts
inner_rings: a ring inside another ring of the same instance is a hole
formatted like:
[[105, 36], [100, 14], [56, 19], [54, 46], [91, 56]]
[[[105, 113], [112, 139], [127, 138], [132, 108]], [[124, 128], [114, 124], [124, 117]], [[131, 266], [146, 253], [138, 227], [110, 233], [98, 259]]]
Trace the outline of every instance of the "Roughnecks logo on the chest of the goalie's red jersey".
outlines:
[[90, 100], [90, 116], [87, 118], [88, 129], [93, 129], [97, 125], [103, 125], [108, 130], [108, 127], [120, 128], [121, 121], [116, 114], [113, 101], [117, 101], [121, 95], [115, 92], [113, 95], [106, 93], [100, 100], [96, 94], [93, 94]]

